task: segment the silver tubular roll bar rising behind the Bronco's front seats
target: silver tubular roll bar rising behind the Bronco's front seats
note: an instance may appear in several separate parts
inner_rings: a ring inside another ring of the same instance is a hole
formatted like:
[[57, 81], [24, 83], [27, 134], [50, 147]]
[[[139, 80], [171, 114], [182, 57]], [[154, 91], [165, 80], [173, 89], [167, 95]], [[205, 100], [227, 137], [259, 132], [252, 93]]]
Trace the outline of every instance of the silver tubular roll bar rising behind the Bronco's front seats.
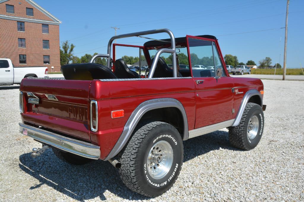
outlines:
[[154, 60], [152, 62], [151, 65], [151, 69], [149, 72], [149, 76], [148, 78], [153, 78], [153, 74], [158, 62], [158, 59], [161, 55], [161, 53], [163, 52], [168, 52], [168, 53], [172, 53], [172, 66], [173, 66], [173, 77], [177, 77], [177, 66], [176, 66], [176, 51], [175, 51], [175, 37], [173, 35], [173, 33], [169, 30], [169, 29], [154, 29], [154, 30], [148, 30], [148, 31], [143, 31], [143, 32], [134, 32], [134, 33], [130, 33], [130, 34], [122, 34], [122, 35], [116, 35], [113, 36], [108, 43], [108, 54], [98, 54], [95, 55], [90, 62], [93, 62], [97, 57], [107, 57], [108, 61], [107, 61], [107, 66], [109, 67], [109, 69], [111, 69], [110, 66], [110, 58], [111, 58], [111, 45], [112, 42], [115, 39], [121, 39], [121, 38], [126, 38], [126, 37], [131, 37], [131, 36], [140, 36], [140, 35], [149, 35], [149, 34], [157, 34], [157, 33], [168, 33], [168, 35], [171, 38], [171, 49], [168, 48], [163, 48], [163, 49], [159, 49], [154, 57]]

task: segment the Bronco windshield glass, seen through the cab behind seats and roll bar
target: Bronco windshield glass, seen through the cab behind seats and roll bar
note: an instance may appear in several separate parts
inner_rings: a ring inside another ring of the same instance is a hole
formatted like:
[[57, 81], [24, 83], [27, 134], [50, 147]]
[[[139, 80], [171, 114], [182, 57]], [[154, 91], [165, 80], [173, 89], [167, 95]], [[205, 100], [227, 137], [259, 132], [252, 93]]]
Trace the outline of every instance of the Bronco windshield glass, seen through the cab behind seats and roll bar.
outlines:
[[[189, 69], [187, 48], [186, 47], [176, 47], [176, 48], [180, 50], [180, 52], [176, 53], [176, 55], [178, 56], [179, 66], [181, 68]], [[149, 54], [150, 54], [151, 59], [154, 58], [156, 52], [157, 52], [156, 49], [149, 50]], [[161, 57], [164, 59], [164, 61], [167, 63], [168, 66], [171, 64], [171, 68], [172, 68], [172, 55], [171, 55], [171, 53], [164, 52], [164, 53], [161, 54]]]

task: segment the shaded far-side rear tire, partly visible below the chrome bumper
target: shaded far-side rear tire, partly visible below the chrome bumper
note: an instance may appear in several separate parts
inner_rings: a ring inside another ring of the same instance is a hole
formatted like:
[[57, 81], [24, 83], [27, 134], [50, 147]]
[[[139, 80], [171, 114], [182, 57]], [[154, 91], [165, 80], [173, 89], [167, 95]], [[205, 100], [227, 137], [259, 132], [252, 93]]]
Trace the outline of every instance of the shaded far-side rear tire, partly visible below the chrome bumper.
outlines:
[[73, 165], [83, 165], [83, 164], [89, 163], [93, 160], [93, 159], [88, 159], [85, 157], [78, 156], [73, 153], [64, 152], [64, 151], [61, 151], [54, 147], [52, 147], [52, 150], [53, 150], [54, 154], [56, 155], [56, 157], [58, 157], [60, 160], [73, 164]]

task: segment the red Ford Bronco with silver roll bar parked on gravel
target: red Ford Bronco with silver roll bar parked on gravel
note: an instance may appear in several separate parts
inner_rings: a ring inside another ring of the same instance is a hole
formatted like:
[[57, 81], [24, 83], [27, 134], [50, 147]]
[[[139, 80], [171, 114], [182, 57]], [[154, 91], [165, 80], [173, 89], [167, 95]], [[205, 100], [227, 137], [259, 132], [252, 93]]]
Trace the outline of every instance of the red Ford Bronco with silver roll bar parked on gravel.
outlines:
[[[112, 45], [115, 39], [161, 32], [170, 38]], [[123, 47], [139, 49], [140, 61], [148, 65], [144, 74], [115, 59], [115, 49]], [[94, 63], [98, 57], [107, 66]], [[263, 133], [263, 83], [230, 77], [211, 35], [174, 38], [168, 29], [117, 35], [107, 54], [62, 66], [61, 72], [64, 78], [21, 82], [20, 133], [43, 145], [31, 156], [50, 147], [72, 164], [107, 160], [128, 188], [145, 196], [159, 196], [174, 184], [183, 140], [228, 128], [233, 146], [251, 150]]]

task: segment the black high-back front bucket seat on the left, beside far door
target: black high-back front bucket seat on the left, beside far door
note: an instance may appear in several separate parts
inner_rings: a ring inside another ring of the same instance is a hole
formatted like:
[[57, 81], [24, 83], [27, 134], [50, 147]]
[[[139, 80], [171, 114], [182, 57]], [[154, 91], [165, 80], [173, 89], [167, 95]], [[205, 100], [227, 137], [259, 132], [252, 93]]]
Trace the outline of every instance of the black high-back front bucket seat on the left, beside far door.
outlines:
[[115, 72], [114, 74], [119, 79], [136, 79], [140, 78], [137, 72], [131, 71], [126, 62], [123, 59], [117, 59], [115, 61]]

